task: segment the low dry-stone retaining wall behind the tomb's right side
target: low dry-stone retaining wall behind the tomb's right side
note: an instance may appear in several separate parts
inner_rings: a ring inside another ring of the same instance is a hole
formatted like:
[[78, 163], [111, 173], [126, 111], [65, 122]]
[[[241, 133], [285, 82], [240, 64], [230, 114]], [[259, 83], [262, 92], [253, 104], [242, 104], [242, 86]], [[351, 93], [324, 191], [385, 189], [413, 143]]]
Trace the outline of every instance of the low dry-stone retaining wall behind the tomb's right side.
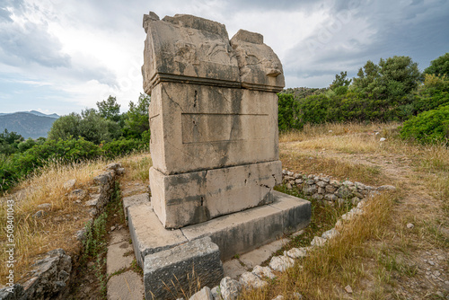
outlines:
[[286, 185], [287, 190], [292, 190], [296, 186], [305, 196], [331, 206], [341, 205], [348, 201], [357, 205], [362, 199], [379, 190], [395, 189], [390, 185], [374, 188], [357, 181], [336, 181], [321, 174], [316, 176], [286, 170], [282, 171], [282, 182]]

